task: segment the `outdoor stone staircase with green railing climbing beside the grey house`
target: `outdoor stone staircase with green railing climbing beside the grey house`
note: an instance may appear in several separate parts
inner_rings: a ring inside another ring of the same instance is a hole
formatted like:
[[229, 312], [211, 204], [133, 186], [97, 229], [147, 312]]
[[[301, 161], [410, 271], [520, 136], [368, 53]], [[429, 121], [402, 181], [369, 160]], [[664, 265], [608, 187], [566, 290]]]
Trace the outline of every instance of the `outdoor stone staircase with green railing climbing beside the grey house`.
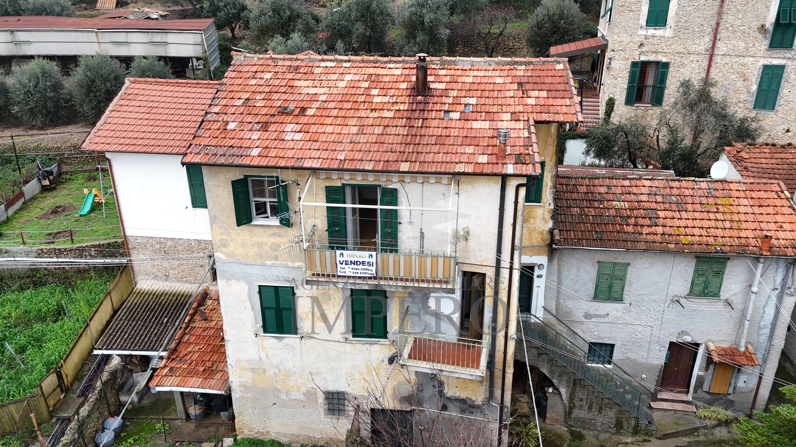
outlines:
[[568, 426], [606, 433], [640, 433], [645, 427], [655, 430], [646, 392], [604, 371], [607, 368], [590, 366], [582, 349], [537, 317], [524, 315], [521, 324], [515, 359], [539, 368], [556, 383], [564, 398]]

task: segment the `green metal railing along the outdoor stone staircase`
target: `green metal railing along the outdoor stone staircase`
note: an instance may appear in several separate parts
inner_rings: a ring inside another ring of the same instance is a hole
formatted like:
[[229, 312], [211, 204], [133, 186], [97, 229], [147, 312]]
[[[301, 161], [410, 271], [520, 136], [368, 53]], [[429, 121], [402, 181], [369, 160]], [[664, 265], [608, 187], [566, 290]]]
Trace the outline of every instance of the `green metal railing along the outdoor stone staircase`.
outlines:
[[631, 417], [638, 418], [642, 391], [609, 368], [593, 364], [595, 360], [586, 351], [541, 321], [539, 317], [524, 313], [520, 318], [522, 330], [517, 331], [517, 336], [523, 336], [524, 331], [524, 338], [530, 344], [564, 364], [598, 391], [602, 391], [604, 395], [627, 410]]

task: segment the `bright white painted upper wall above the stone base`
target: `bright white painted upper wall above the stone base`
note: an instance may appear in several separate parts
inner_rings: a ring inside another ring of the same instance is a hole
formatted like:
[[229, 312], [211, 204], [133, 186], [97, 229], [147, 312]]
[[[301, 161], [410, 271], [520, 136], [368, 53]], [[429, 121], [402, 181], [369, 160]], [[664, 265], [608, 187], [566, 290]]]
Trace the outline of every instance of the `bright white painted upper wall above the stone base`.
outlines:
[[108, 152], [128, 236], [210, 240], [206, 208], [192, 208], [181, 155]]

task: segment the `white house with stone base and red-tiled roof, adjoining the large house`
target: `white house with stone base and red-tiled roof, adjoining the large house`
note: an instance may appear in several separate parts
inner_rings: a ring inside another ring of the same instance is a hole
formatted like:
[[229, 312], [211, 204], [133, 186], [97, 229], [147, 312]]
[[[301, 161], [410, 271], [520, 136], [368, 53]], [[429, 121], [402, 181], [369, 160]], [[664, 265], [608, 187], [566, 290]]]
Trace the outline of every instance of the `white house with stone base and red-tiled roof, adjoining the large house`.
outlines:
[[136, 282], [196, 284], [207, 270], [207, 204], [189, 185], [201, 169], [180, 161], [218, 85], [127, 78], [81, 146], [107, 157]]

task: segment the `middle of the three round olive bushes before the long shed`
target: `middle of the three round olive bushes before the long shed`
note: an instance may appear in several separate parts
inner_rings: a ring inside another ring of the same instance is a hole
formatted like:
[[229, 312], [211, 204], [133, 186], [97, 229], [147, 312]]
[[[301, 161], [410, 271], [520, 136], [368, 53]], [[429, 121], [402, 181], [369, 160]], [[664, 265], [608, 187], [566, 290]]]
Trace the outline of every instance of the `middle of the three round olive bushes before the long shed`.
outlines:
[[100, 118], [124, 84], [126, 74], [119, 60], [111, 56], [80, 56], [72, 72], [73, 96], [80, 115], [92, 120]]

